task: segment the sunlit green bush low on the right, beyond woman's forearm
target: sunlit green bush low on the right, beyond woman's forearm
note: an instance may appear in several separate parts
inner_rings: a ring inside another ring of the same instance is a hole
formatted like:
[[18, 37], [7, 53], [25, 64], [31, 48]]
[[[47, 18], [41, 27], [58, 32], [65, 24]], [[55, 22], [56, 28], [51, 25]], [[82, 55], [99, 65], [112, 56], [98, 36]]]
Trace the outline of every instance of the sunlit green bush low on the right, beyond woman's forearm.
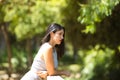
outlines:
[[80, 50], [79, 58], [82, 59], [83, 64], [80, 63], [81, 59], [74, 63], [69, 59], [70, 57], [67, 57], [68, 55], [65, 55], [62, 59], [62, 69], [71, 71], [71, 76], [65, 77], [65, 80], [110, 80], [109, 75], [114, 77], [111, 68], [113, 72], [114, 70], [117, 72], [118, 68], [116, 67], [119, 65], [114, 62], [114, 55], [115, 51], [105, 45], [96, 45], [89, 50]]

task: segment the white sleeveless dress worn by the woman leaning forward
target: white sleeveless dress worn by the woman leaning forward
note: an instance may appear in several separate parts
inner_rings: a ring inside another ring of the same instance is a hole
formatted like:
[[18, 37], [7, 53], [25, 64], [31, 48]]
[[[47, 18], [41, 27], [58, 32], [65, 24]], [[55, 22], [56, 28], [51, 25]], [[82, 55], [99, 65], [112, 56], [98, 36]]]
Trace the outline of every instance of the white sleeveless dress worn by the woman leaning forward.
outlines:
[[[43, 45], [48, 45], [48, 43], [44, 43]], [[32, 63], [31, 69], [21, 78], [21, 80], [42, 80], [37, 74], [37, 71], [46, 71], [46, 65], [44, 60], [40, 58], [41, 55], [41, 49], [39, 49], [38, 53], [36, 54], [34, 61]], [[53, 56], [54, 56], [54, 64], [55, 68], [58, 67], [58, 60], [57, 60], [57, 53], [56, 50], [53, 50]], [[47, 80], [56, 80], [52, 79], [53, 76], [48, 76]], [[54, 76], [55, 77], [55, 76]], [[58, 77], [58, 76], [56, 76]], [[60, 76], [59, 76], [60, 77]], [[60, 80], [60, 79], [57, 79]]]

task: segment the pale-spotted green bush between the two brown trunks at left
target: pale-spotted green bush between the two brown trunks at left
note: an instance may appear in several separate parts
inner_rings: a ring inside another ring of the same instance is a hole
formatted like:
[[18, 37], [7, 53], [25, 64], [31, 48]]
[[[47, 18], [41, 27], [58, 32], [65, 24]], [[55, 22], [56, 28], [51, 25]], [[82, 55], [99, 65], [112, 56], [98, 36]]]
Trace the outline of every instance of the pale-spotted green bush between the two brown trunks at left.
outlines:
[[18, 49], [17, 47], [12, 47], [12, 68], [14, 72], [24, 72], [23, 69], [27, 68], [27, 58], [26, 52], [22, 49]]

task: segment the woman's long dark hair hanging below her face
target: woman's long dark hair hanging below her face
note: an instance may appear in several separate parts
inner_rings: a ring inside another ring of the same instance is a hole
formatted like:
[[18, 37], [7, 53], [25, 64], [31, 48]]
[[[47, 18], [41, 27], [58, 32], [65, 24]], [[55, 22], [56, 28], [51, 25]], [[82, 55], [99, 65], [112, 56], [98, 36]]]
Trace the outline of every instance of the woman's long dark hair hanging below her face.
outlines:
[[[51, 24], [47, 31], [46, 31], [46, 35], [43, 37], [42, 41], [41, 41], [41, 44], [45, 43], [45, 42], [48, 42], [50, 40], [50, 32], [57, 32], [59, 30], [64, 30], [64, 33], [65, 33], [65, 28], [57, 23], [53, 23]], [[63, 35], [63, 37], [65, 36], [65, 34]], [[61, 44], [59, 45], [55, 45], [55, 48], [57, 50], [57, 57], [58, 57], [58, 60], [63, 56], [64, 54], [64, 49], [65, 49], [65, 44], [64, 44], [64, 38], [61, 42]]]

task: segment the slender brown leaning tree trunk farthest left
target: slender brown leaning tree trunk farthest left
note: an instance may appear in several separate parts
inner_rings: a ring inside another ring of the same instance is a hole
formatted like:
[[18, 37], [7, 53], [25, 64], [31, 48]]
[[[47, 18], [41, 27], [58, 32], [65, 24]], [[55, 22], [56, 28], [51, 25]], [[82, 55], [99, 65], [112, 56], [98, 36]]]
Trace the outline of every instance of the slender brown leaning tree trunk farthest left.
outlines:
[[7, 32], [6, 26], [2, 26], [1, 30], [2, 30], [4, 38], [5, 38], [6, 47], [7, 47], [7, 53], [8, 53], [8, 64], [9, 64], [8, 76], [11, 77], [11, 73], [12, 73], [12, 63], [11, 63], [12, 50], [11, 50], [11, 44], [10, 44], [10, 40], [9, 40], [9, 36], [8, 36], [8, 32]]

